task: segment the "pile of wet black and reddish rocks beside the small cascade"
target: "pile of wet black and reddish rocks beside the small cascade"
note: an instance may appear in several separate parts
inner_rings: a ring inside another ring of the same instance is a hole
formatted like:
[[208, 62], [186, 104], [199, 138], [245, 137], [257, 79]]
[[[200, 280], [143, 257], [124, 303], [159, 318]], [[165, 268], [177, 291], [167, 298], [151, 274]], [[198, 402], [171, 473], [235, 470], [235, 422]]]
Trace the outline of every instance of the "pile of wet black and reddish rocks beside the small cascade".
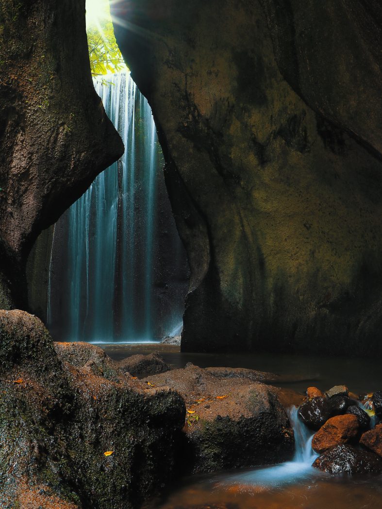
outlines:
[[309, 387], [298, 416], [316, 430], [314, 467], [333, 474], [382, 471], [381, 391], [359, 396], [344, 385], [325, 393]]

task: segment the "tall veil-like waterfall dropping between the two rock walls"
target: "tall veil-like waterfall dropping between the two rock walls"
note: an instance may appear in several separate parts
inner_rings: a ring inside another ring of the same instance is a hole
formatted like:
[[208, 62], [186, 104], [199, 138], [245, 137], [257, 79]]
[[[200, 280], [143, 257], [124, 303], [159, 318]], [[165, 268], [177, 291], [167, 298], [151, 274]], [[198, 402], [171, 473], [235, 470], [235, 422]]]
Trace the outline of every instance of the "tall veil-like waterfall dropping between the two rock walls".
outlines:
[[[48, 326], [69, 341], [150, 341], [179, 323], [185, 255], [163, 191], [150, 106], [128, 73], [106, 79], [95, 88], [125, 153], [56, 224]], [[163, 262], [164, 252], [180, 258]]]

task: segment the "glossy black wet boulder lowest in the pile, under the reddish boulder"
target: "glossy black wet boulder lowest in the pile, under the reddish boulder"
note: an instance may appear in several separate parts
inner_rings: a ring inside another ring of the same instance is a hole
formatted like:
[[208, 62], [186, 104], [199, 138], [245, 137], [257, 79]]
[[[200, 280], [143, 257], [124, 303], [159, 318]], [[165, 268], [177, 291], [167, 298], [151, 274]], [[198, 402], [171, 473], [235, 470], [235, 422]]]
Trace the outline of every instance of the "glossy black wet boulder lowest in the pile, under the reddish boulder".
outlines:
[[332, 474], [379, 473], [382, 471], [382, 459], [371, 451], [340, 444], [326, 450], [313, 467]]

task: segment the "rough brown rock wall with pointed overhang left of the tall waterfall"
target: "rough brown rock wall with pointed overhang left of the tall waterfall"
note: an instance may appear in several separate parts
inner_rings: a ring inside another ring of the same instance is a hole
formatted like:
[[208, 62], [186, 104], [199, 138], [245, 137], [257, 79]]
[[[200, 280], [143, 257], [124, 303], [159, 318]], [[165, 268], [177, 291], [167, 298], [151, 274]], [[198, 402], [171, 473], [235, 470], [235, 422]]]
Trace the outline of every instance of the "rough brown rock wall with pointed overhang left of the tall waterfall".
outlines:
[[123, 144], [93, 88], [85, 0], [2, 0], [0, 76], [0, 299], [25, 307], [34, 240]]

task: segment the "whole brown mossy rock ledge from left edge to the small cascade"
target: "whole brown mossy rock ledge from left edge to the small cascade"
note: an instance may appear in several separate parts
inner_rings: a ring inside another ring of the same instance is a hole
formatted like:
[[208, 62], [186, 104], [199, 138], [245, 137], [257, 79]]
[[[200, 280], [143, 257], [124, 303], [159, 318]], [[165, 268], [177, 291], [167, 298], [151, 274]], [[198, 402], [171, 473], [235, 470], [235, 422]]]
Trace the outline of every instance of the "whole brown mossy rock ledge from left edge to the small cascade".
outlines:
[[192, 364], [141, 380], [126, 371], [141, 368], [169, 366], [53, 343], [36, 317], [0, 310], [0, 507], [134, 509], [180, 472], [293, 455], [283, 404], [298, 396], [263, 383], [275, 375]]

